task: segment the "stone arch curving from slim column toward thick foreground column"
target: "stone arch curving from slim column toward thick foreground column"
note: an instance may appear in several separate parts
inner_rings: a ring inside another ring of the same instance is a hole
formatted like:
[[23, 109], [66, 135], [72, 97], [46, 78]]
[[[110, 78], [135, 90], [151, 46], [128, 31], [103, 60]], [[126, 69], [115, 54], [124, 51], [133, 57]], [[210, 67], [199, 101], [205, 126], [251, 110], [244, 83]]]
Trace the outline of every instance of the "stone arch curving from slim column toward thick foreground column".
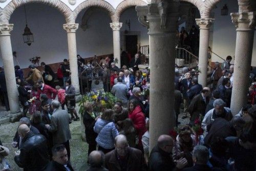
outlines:
[[115, 20], [114, 22], [119, 22], [119, 18], [124, 10], [133, 6], [143, 6], [147, 5], [144, 1], [141, 0], [125, 0], [121, 2], [117, 8], [115, 13]]

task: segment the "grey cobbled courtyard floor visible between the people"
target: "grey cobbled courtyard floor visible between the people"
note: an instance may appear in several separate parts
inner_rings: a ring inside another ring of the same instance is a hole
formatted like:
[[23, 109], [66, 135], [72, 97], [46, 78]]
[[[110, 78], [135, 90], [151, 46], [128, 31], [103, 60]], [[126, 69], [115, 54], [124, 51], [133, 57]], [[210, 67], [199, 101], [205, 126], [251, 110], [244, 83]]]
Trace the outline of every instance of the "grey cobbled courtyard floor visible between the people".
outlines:
[[[78, 104], [76, 106], [78, 111]], [[183, 114], [179, 116], [179, 121], [182, 124], [188, 123], [188, 118], [181, 119]], [[80, 118], [81, 119], [81, 118]], [[87, 165], [87, 152], [88, 152], [88, 144], [81, 139], [81, 122], [80, 121], [73, 121], [70, 124], [70, 130], [72, 134], [72, 139], [70, 140], [71, 146], [71, 163], [75, 170], [84, 171], [89, 166]], [[15, 135], [16, 129], [18, 126], [18, 122], [15, 123], [5, 123], [0, 125], [0, 138], [3, 142], [4, 146], [7, 146], [10, 149], [10, 155], [7, 157], [12, 170], [20, 171], [20, 169], [14, 162], [14, 152], [17, 148], [13, 148], [11, 146], [12, 139]]]

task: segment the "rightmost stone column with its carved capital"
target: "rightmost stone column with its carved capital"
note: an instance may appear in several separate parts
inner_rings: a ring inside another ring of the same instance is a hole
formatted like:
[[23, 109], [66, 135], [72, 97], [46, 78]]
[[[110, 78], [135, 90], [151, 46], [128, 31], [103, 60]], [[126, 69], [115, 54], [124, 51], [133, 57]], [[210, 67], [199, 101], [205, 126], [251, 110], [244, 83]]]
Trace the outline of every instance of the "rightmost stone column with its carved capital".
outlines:
[[234, 77], [230, 105], [233, 115], [238, 114], [242, 106], [247, 102], [255, 15], [256, 12], [231, 13], [232, 22], [237, 27]]

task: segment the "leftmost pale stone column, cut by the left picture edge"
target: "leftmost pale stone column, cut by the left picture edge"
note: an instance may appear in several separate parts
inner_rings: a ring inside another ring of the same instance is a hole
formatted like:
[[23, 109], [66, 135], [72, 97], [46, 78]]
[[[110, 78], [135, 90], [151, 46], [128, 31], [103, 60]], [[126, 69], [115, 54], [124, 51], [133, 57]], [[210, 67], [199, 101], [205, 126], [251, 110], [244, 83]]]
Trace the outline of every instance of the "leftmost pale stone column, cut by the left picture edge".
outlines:
[[0, 24], [0, 48], [4, 63], [7, 94], [11, 113], [19, 112], [18, 91], [16, 87], [15, 71], [12, 56], [10, 32], [13, 24]]

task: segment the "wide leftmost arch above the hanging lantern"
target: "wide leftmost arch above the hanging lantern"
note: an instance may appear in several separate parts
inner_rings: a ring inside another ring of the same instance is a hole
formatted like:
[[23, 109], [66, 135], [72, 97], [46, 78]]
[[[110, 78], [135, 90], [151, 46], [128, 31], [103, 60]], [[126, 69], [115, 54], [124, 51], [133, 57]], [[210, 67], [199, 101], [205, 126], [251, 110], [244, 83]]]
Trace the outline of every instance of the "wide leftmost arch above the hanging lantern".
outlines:
[[20, 6], [29, 3], [40, 3], [49, 5], [50, 7], [54, 7], [61, 12], [61, 14], [65, 17], [67, 23], [75, 22], [70, 8], [58, 0], [13, 0], [0, 12], [0, 22], [8, 24], [13, 11]]

